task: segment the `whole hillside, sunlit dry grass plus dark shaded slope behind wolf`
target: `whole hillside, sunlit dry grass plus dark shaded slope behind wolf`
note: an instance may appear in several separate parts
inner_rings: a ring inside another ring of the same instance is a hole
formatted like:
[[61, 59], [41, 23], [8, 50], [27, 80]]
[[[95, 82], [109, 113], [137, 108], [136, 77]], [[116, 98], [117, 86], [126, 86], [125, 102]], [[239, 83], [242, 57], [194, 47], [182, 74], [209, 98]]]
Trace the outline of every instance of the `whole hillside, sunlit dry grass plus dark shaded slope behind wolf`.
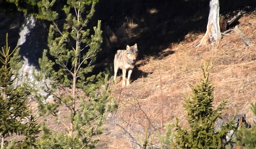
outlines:
[[[250, 123], [256, 120], [250, 111], [251, 103], [256, 102], [256, 11], [248, 11], [238, 23], [240, 30], [252, 41], [252, 46], [246, 46], [231, 28], [217, 46], [209, 44], [195, 48], [206, 30], [208, 1], [200, 0], [194, 5], [197, 0], [163, 3], [142, 0], [130, 5], [135, 1], [101, 0], [92, 18], [102, 20], [104, 43], [99, 55], [102, 62], [96, 67], [100, 68], [98, 70], [107, 67], [113, 71], [114, 53], [117, 49], [124, 49], [126, 44], [137, 43], [140, 51], [130, 87], [121, 87], [121, 71], [117, 84], [114, 84], [113, 77], [109, 80], [111, 95], [118, 108], [107, 115], [103, 134], [96, 137], [100, 139], [97, 149], [139, 148], [145, 134], [148, 135], [149, 147], [157, 149], [160, 147], [157, 132], [163, 134], [165, 124], [175, 123], [175, 117], [178, 117], [180, 124], [186, 127], [183, 101], [190, 95], [191, 87], [199, 82], [204, 60], [212, 60], [210, 77], [215, 86], [215, 105], [223, 99], [229, 101], [224, 117], [246, 113]], [[254, 0], [250, 2], [254, 4]], [[225, 7], [225, 10], [220, 7], [220, 12], [231, 13], [237, 5]], [[180, 11], [186, 8], [187, 11]], [[21, 27], [18, 19], [19, 16], [7, 20], [10, 25], [0, 28], [1, 39], [8, 32], [13, 47]], [[0, 17], [2, 20], [5, 18]], [[4, 45], [3, 41], [0, 45]], [[29, 104], [38, 114], [36, 102]], [[67, 110], [62, 108], [59, 113], [62, 122], [68, 123]], [[56, 124], [50, 116], [40, 117], [41, 121], [46, 121], [47, 126], [57, 132], [65, 131], [65, 127], [60, 122]]]

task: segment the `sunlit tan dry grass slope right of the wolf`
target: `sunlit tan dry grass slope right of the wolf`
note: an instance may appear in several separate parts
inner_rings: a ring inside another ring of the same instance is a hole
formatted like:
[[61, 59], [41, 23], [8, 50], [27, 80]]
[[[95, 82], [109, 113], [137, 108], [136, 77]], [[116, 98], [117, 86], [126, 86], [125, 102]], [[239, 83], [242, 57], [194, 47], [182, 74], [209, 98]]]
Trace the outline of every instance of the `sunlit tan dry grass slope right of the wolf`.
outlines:
[[[178, 117], [180, 124], [186, 126], [183, 99], [199, 82], [204, 60], [212, 60], [214, 103], [218, 105], [223, 99], [229, 101], [223, 115], [246, 113], [250, 122], [255, 120], [250, 105], [256, 102], [256, 15], [243, 16], [239, 21], [242, 32], [254, 42], [252, 46], [245, 46], [235, 32], [230, 32], [218, 46], [194, 48], [203, 34], [197, 37], [188, 34], [188, 39], [164, 51], [172, 50], [174, 54], [140, 60], [137, 72], [142, 73], [142, 77], [134, 80], [130, 87], [121, 88], [121, 83], [112, 85], [119, 108], [109, 115], [100, 146], [136, 148], [147, 130], [151, 145], [160, 147], [156, 131], [164, 131], [164, 124], [172, 124]], [[133, 75], [139, 73], [134, 71]]]

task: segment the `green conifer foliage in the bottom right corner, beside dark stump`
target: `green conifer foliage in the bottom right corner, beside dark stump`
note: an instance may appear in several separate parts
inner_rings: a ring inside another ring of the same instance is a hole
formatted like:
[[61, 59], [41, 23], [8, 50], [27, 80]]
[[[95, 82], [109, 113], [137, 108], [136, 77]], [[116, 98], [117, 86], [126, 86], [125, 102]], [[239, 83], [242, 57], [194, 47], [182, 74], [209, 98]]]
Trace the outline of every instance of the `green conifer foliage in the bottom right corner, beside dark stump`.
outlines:
[[[256, 116], [256, 103], [251, 104], [251, 111]], [[236, 144], [245, 147], [245, 149], [256, 149], [256, 123], [251, 129], [241, 127], [236, 133]]]

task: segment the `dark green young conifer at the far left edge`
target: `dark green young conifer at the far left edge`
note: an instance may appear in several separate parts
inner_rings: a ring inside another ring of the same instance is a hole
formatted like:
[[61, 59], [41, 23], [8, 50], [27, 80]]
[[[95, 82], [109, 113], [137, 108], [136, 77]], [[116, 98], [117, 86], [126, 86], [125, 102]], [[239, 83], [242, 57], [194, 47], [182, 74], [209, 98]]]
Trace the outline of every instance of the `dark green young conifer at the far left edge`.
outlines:
[[24, 149], [36, 147], [39, 125], [31, 114], [28, 105], [30, 90], [28, 84], [18, 85], [15, 79], [18, 76], [21, 63], [18, 62], [19, 49], [12, 52], [6, 46], [0, 51], [0, 136], [1, 149], [10, 143], [6, 138], [12, 135], [24, 136], [22, 140], [12, 142], [12, 148]]

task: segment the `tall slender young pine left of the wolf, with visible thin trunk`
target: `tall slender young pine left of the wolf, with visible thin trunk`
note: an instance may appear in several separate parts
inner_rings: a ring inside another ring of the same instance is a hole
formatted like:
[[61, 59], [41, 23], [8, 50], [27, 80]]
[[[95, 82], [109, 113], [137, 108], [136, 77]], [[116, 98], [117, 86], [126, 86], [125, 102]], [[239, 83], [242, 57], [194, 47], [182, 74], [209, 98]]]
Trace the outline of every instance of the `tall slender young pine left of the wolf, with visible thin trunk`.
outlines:
[[[66, 18], [61, 24], [56, 21], [58, 13], [51, 10], [54, 2], [43, 2], [42, 18], [51, 21], [52, 25], [48, 36], [49, 50], [45, 50], [39, 60], [41, 73], [37, 75], [38, 80], [45, 80], [43, 89], [54, 102], [45, 102], [48, 96], [38, 96], [38, 101], [40, 110], [53, 115], [66, 131], [55, 132], [43, 125], [39, 146], [43, 149], [92, 148], [98, 141], [93, 136], [101, 133], [100, 126], [111, 109], [108, 105], [111, 99], [108, 75], [91, 73], [101, 50], [101, 22], [98, 21], [93, 28], [94, 34], [90, 35], [87, 25], [94, 13], [95, 2], [68, 0], [62, 9]], [[91, 7], [90, 11], [87, 11], [88, 7]], [[57, 90], [62, 93], [57, 94]], [[68, 122], [60, 118], [59, 109], [63, 107], [69, 110]]]

